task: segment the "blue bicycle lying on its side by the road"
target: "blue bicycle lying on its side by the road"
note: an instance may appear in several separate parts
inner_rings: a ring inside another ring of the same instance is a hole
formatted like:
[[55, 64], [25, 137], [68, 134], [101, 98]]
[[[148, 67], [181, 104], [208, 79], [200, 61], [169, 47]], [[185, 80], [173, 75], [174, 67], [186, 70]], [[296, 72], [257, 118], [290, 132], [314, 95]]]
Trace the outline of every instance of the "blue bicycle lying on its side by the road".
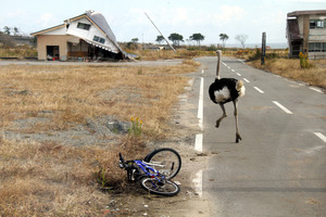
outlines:
[[181, 157], [173, 149], [156, 149], [149, 153], [143, 161], [125, 161], [120, 153], [120, 167], [127, 170], [129, 182], [140, 180], [140, 186], [154, 194], [173, 196], [179, 193], [180, 188], [171, 179], [181, 168]]

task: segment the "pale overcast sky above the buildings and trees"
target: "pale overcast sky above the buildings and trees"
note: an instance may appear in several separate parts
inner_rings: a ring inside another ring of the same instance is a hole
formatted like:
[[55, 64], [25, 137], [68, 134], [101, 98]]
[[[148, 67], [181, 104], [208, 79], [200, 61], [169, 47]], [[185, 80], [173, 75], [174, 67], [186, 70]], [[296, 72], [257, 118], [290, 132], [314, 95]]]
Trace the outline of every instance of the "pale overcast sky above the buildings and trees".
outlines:
[[[154, 42], [159, 33], [189, 36], [200, 33], [204, 44], [238, 43], [237, 35], [248, 35], [247, 43], [260, 43], [266, 31], [267, 43], [285, 43], [287, 13], [326, 10], [326, 0], [0, 0], [0, 28], [17, 27], [25, 34], [62, 24], [86, 10], [101, 12], [118, 41]], [[187, 42], [186, 42], [187, 43]]]

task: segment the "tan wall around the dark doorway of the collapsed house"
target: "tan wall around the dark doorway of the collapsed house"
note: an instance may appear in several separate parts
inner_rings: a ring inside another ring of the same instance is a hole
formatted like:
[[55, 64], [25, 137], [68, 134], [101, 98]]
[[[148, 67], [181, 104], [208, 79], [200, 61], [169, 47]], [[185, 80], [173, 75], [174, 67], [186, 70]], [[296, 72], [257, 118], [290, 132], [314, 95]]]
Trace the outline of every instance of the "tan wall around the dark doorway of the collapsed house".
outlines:
[[38, 35], [37, 51], [38, 60], [47, 60], [47, 46], [59, 46], [60, 60], [67, 56], [67, 36], [65, 35]]

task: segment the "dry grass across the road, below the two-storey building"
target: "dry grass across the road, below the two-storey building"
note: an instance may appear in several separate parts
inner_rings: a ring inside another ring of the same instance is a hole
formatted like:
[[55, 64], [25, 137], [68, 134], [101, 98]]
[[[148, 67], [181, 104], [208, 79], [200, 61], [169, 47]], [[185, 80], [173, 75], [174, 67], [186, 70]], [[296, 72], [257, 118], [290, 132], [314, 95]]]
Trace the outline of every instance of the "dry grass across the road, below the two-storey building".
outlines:
[[261, 61], [249, 62], [249, 65], [272, 72], [286, 78], [302, 80], [312, 86], [326, 88], [326, 61], [311, 61], [311, 68], [301, 68], [299, 59], [267, 59], [265, 65]]

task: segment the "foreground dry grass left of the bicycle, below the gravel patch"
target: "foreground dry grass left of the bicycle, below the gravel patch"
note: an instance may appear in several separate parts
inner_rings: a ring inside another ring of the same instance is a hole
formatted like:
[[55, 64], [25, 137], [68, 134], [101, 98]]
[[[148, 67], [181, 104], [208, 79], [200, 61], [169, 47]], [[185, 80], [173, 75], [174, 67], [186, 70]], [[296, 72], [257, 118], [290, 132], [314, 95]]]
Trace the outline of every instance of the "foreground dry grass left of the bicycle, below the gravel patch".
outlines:
[[[98, 216], [109, 196], [97, 190], [99, 166], [110, 184], [123, 184], [117, 150], [67, 148], [53, 142], [0, 143], [1, 216]], [[109, 173], [110, 171], [110, 173]]]

